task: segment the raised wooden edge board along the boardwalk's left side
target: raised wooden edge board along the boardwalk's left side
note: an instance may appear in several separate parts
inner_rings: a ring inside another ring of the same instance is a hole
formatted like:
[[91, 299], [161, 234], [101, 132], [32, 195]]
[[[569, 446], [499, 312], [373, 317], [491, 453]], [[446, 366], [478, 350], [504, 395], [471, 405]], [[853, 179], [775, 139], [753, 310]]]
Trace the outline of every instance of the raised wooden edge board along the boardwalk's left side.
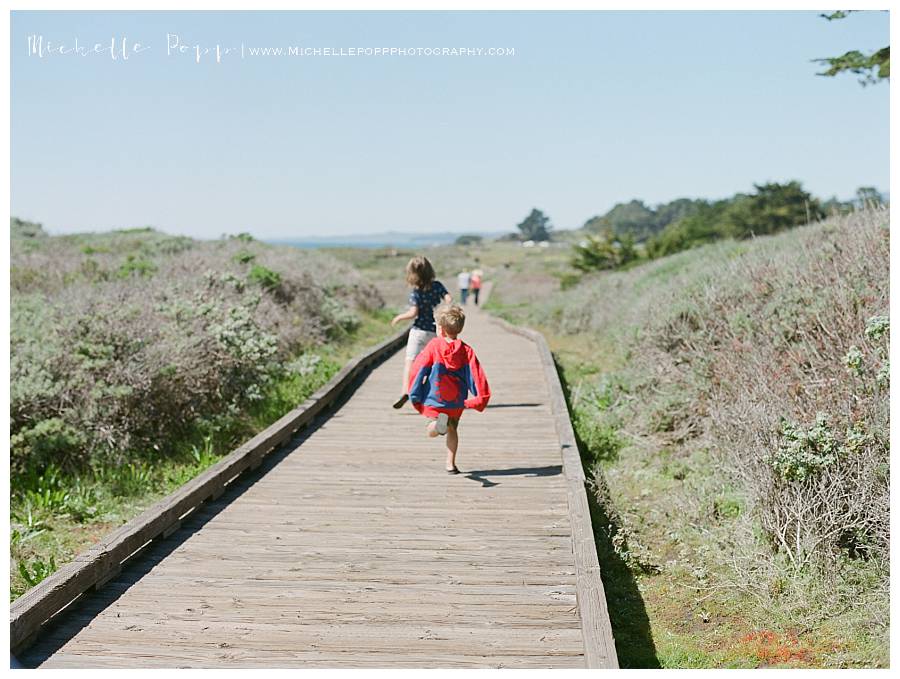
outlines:
[[76, 599], [102, 587], [148, 543], [171, 534], [184, 516], [219, 497], [243, 472], [257, 468], [266, 455], [333, 405], [373, 363], [402, 347], [408, 332], [408, 329], [403, 330], [352, 359], [297, 408], [16, 599], [9, 611], [11, 653], [21, 653], [28, 648], [41, 628], [68, 610]]

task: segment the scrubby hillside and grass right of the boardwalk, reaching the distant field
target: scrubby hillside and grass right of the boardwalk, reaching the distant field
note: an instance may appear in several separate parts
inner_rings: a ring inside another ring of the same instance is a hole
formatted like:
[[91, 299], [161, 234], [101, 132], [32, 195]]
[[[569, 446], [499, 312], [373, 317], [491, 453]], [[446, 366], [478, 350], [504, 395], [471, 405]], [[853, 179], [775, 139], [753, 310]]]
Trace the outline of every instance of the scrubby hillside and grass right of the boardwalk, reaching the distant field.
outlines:
[[[868, 210], [584, 277], [568, 245], [425, 253], [551, 344], [623, 666], [887, 665], [888, 245]], [[335, 254], [405, 304], [413, 253]]]

